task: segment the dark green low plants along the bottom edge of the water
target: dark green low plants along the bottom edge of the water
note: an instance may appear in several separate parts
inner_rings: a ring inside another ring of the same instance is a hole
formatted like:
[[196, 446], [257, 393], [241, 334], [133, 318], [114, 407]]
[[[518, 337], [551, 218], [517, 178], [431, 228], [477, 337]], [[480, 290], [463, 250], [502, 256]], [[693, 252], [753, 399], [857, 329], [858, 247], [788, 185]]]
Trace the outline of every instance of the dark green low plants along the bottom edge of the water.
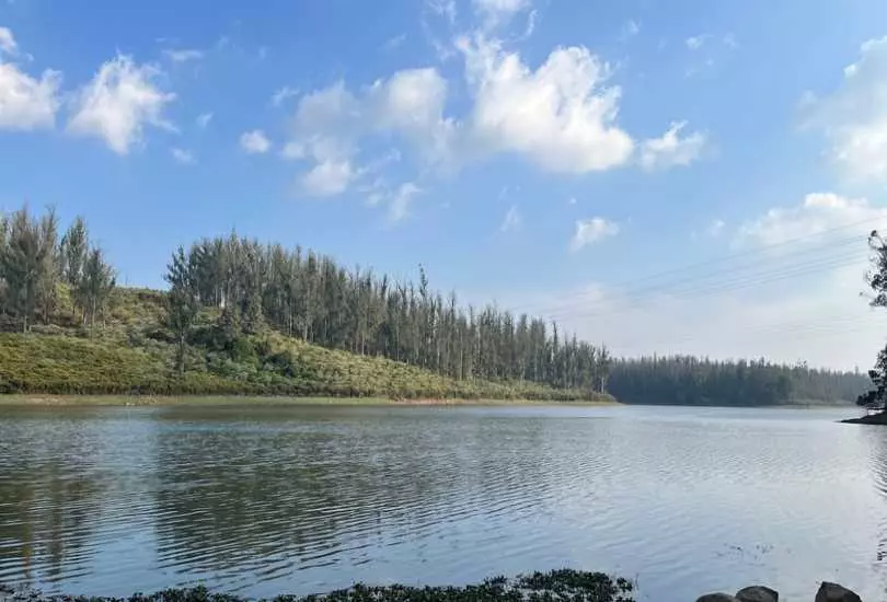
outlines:
[[[356, 584], [345, 590], [314, 595], [278, 595], [276, 602], [632, 602], [633, 586], [625, 579], [612, 579], [601, 572], [572, 569], [520, 575], [514, 579], [497, 577], [464, 587], [406, 586], [369, 587]], [[243, 599], [211, 593], [204, 587], [169, 589], [153, 594], [136, 593], [123, 598], [44, 597], [39, 592], [15, 592], [0, 586], [0, 594], [21, 602], [245, 602]]]

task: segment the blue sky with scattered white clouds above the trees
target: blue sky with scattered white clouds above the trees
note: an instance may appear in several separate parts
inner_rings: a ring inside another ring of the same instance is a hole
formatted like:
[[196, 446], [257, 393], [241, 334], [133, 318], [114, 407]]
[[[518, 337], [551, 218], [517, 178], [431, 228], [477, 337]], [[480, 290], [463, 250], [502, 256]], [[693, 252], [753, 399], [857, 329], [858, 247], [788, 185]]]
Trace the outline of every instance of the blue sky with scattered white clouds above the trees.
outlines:
[[866, 370], [885, 185], [883, 0], [0, 0], [0, 209], [129, 286], [235, 230], [620, 356]]

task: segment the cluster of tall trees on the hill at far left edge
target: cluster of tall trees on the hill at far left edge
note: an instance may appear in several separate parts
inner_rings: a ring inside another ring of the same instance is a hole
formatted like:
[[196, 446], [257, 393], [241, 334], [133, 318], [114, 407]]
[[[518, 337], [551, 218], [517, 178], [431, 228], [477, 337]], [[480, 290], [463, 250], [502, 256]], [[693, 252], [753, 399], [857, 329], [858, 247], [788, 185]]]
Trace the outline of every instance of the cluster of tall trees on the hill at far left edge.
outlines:
[[[60, 287], [61, 286], [61, 287]], [[59, 238], [55, 209], [33, 215], [27, 206], [0, 215], [0, 322], [27, 333], [49, 324], [67, 289], [84, 326], [106, 311], [115, 286], [114, 269], [91, 244], [87, 224], [77, 218]]]

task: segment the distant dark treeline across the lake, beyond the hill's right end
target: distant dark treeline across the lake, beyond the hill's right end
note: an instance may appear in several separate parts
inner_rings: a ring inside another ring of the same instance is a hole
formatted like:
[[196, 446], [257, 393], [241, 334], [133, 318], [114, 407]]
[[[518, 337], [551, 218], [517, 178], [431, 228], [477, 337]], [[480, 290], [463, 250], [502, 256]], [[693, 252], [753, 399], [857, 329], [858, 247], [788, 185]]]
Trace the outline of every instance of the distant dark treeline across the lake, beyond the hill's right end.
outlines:
[[852, 402], [869, 380], [803, 364], [671, 356], [617, 360], [609, 383], [610, 393], [625, 403], [747, 406]]

